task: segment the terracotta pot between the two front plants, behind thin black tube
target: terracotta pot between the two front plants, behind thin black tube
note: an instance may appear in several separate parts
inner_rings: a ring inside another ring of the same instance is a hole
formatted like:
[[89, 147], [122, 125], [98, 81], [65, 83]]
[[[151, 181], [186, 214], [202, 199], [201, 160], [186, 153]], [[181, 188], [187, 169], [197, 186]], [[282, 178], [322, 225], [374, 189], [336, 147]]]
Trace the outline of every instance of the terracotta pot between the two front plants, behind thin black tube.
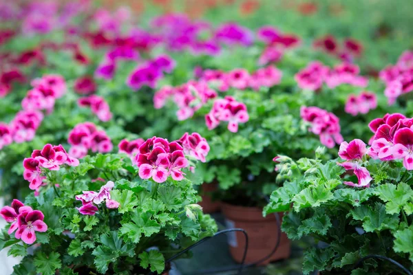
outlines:
[[[275, 248], [279, 228], [273, 214], [264, 218], [262, 217], [262, 208], [233, 206], [228, 203], [222, 203], [222, 212], [226, 228], [242, 228], [248, 234], [248, 251], [245, 263], [260, 261]], [[282, 213], [279, 215], [282, 217]], [[226, 235], [231, 256], [237, 263], [241, 263], [245, 248], [244, 234], [232, 232]], [[287, 235], [282, 232], [277, 250], [269, 259], [259, 263], [259, 265], [268, 265], [271, 261], [288, 259], [290, 250], [290, 241]]]

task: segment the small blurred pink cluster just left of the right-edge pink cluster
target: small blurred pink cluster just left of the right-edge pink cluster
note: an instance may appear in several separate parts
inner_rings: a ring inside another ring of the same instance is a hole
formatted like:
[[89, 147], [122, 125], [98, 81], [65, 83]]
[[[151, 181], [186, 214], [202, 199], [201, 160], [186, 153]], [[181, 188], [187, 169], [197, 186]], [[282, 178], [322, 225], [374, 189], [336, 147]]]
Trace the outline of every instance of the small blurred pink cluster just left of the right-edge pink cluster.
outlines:
[[377, 108], [377, 96], [371, 91], [363, 91], [359, 96], [350, 95], [347, 98], [344, 111], [351, 115], [358, 113], [368, 113], [370, 110]]

